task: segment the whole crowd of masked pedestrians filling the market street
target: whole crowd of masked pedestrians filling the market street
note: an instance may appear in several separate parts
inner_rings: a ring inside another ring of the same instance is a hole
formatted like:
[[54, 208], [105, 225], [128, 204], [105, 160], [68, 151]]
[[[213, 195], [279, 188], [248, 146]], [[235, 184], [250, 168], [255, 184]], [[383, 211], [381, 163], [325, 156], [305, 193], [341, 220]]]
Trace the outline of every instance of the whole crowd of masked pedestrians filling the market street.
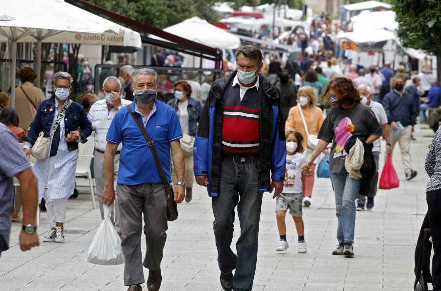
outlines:
[[[11, 220], [24, 224], [23, 250], [39, 244], [35, 211], [43, 199], [49, 221], [43, 241], [65, 241], [78, 144], [95, 132], [93, 167], [100, 216], [105, 218], [104, 205], [111, 207], [110, 220], [125, 256], [123, 281], [128, 291], [142, 289], [143, 267], [149, 270], [149, 291], [159, 290], [162, 282], [168, 226], [159, 165], [178, 203], [191, 202], [194, 181], [207, 188], [220, 283], [226, 291], [252, 288], [265, 192], [275, 199], [280, 235], [275, 251], [289, 247], [285, 224], [289, 210], [298, 236], [297, 251], [307, 252], [304, 229], [308, 225], [302, 219], [302, 208], [313, 203], [316, 165], [323, 157], [329, 159], [338, 218], [337, 247], [330, 247], [330, 253], [354, 256], [356, 211], [374, 207], [383, 162], [380, 136], [386, 144], [385, 158], [392, 155], [398, 141], [405, 177], [413, 179], [417, 175], [410, 155], [413, 126], [417, 119], [425, 121], [428, 108], [439, 106], [441, 91], [434, 79], [427, 90], [421, 90], [427, 70], [423, 75], [408, 73], [405, 67], [393, 72], [388, 62], [382, 69], [342, 66], [332, 50], [315, 53], [317, 39], [311, 42], [312, 53], [307, 46], [298, 61], [287, 62], [247, 45], [236, 51], [236, 67], [230, 74], [216, 80], [209, 76], [205, 86], [194, 72], [172, 81], [165, 72], [124, 65], [119, 76], [110, 74], [102, 80], [103, 99], [86, 91], [82, 105], [72, 100], [69, 73], [52, 75], [54, 94], [45, 99], [43, 91], [32, 85], [35, 72], [22, 69], [15, 110], [6, 106], [8, 96], [0, 94], [0, 141], [11, 153], [0, 162], [0, 200], [4, 202], [0, 221], [5, 222], [0, 227], [0, 251], [8, 247]], [[152, 65], [176, 61], [162, 53], [158, 50], [152, 56]], [[270, 64], [263, 72], [267, 57]], [[90, 90], [87, 58], [79, 65], [79, 79]], [[161, 95], [167, 94], [172, 98], [161, 102]], [[146, 140], [144, 130], [152, 142]], [[44, 138], [49, 139], [47, 156], [36, 159], [31, 170], [26, 156], [35, 155], [31, 149]], [[431, 150], [432, 156], [436, 150]], [[428, 163], [426, 170], [435, 177], [437, 167], [433, 160]], [[20, 180], [15, 199], [12, 176]], [[433, 189], [428, 187], [428, 193]], [[23, 217], [19, 217], [20, 208]], [[231, 243], [236, 208], [241, 234], [235, 253]], [[140, 247], [143, 219], [144, 255]]]

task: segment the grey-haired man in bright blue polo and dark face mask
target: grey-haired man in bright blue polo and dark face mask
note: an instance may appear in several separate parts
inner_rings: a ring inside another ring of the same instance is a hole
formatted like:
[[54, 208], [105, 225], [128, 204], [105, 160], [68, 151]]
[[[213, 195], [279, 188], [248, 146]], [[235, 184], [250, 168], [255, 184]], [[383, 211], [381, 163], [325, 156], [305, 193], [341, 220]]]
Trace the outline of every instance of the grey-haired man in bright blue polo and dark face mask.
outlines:
[[[181, 202], [185, 195], [184, 156], [179, 139], [181, 125], [174, 109], [156, 100], [159, 76], [152, 69], [139, 69], [132, 73], [135, 101], [132, 112], [142, 121], [154, 142], [167, 181], [171, 182], [170, 150], [177, 185], [174, 200]], [[113, 188], [114, 157], [123, 142], [118, 175], [118, 207], [121, 216], [123, 253], [125, 256], [124, 285], [127, 291], [141, 291], [144, 283], [143, 265], [149, 269], [147, 290], [158, 291], [161, 286], [161, 261], [166, 241], [166, 194], [153, 154], [140, 128], [127, 107], [119, 110], [107, 133], [104, 152], [104, 191], [102, 201], [110, 206], [115, 200]], [[144, 213], [144, 233], [147, 251], [141, 264], [141, 232]]]

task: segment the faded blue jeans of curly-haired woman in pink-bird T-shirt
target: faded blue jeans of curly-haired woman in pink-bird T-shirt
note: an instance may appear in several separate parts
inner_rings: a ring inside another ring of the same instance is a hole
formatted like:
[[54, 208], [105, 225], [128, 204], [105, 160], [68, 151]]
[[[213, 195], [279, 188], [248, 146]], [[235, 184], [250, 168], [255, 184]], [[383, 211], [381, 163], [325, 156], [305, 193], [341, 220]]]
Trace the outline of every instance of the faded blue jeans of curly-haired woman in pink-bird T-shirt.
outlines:
[[337, 239], [339, 243], [354, 243], [355, 199], [360, 191], [361, 179], [349, 178], [348, 173], [331, 173], [330, 176], [338, 219]]

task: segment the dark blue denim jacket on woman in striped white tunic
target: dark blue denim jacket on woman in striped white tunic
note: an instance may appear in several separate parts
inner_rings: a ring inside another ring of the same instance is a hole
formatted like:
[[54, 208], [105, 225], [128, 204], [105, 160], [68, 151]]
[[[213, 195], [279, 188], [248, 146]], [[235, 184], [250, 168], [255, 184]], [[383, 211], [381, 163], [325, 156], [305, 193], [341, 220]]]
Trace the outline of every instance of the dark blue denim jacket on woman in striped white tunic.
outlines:
[[[23, 137], [23, 142], [25, 145], [32, 147], [40, 132], [44, 132], [45, 137], [49, 136], [55, 115], [55, 110], [50, 110], [50, 108], [53, 108], [54, 104], [55, 95], [50, 99], [46, 99], [40, 104], [34, 121], [32, 122], [32, 126], [29, 129], [28, 135]], [[85, 143], [87, 141], [87, 137], [92, 132], [92, 126], [87, 119], [86, 111], [84, 111], [83, 106], [76, 102], [72, 102], [64, 116], [64, 136], [67, 137], [70, 132], [77, 130], [78, 127], [81, 129], [80, 141]], [[78, 148], [78, 141], [68, 142], [67, 145], [70, 151], [76, 150]]]

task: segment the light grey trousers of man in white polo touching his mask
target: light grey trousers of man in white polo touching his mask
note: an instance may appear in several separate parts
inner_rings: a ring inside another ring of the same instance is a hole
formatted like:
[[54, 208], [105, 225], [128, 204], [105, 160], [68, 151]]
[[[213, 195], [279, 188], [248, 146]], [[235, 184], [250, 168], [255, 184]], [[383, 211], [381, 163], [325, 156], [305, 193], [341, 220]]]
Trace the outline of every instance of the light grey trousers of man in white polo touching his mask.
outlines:
[[[104, 170], [103, 170], [103, 160], [104, 154], [95, 151], [94, 158], [94, 172], [95, 172], [95, 185], [97, 187], [98, 205], [99, 212], [101, 212], [101, 219], [104, 220], [104, 209], [101, 200], [102, 192], [104, 191]], [[118, 211], [118, 193], [117, 193], [117, 180], [118, 180], [118, 168], [120, 167], [120, 155], [115, 155], [115, 168], [113, 170], [113, 189], [115, 190], [115, 202], [111, 205], [112, 213], [110, 216], [110, 221], [112, 221], [116, 232], [121, 236], [121, 223], [120, 223], [120, 212]]]

